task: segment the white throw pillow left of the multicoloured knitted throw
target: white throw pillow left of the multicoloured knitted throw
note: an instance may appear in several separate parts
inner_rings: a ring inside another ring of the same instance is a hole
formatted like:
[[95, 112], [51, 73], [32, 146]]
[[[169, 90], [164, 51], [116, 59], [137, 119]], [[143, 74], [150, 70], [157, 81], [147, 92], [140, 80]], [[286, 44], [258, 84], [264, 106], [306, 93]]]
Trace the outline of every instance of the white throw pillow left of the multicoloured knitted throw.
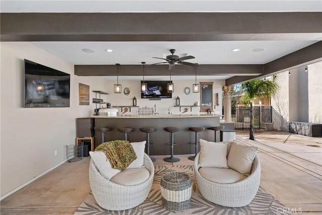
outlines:
[[121, 170], [113, 169], [104, 152], [90, 152], [90, 156], [101, 175], [106, 179], [111, 179], [113, 176], [121, 172]]

